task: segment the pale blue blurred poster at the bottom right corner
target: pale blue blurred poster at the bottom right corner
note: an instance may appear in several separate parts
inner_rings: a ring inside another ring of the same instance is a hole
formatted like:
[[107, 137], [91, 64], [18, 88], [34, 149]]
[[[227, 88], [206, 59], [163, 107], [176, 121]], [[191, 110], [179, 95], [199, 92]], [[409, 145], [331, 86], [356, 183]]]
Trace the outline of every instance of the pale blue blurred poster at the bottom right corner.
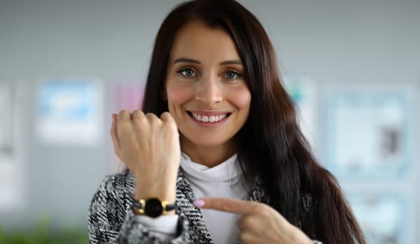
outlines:
[[412, 243], [414, 221], [407, 195], [396, 192], [369, 192], [349, 196], [349, 202], [366, 243]]

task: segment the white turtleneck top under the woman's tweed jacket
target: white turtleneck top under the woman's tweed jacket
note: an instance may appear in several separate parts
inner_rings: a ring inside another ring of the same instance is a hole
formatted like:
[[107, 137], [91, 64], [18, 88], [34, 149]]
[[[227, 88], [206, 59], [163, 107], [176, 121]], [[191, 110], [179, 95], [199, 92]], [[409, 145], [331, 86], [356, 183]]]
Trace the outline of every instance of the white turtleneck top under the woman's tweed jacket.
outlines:
[[[220, 165], [209, 168], [192, 162], [187, 154], [182, 153], [180, 167], [189, 181], [196, 199], [200, 197], [246, 199], [247, 197], [244, 178], [236, 155]], [[236, 220], [240, 218], [240, 215], [210, 209], [201, 209], [201, 213], [214, 243], [236, 243], [238, 241], [239, 231], [236, 227]], [[156, 219], [138, 215], [137, 218], [154, 234], [168, 239], [175, 237], [178, 215], [163, 215]]]

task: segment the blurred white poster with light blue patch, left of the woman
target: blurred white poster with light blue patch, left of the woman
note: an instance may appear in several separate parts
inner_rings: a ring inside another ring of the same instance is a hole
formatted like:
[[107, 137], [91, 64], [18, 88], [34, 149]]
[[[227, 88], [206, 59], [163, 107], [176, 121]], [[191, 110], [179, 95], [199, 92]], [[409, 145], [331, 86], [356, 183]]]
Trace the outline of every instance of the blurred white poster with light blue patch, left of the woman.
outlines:
[[96, 79], [44, 79], [38, 87], [36, 131], [41, 142], [94, 146], [102, 133], [103, 88]]

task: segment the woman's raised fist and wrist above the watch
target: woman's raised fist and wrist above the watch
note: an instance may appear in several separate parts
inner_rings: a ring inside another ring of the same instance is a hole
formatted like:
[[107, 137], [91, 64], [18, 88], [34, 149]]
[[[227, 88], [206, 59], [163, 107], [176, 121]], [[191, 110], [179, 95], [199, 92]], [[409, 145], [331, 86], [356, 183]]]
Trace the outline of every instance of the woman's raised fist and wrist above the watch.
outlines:
[[136, 176], [134, 197], [175, 201], [180, 165], [178, 128], [171, 114], [144, 114], [122, 110], [113, 114], [111, 136], [115, 154]]

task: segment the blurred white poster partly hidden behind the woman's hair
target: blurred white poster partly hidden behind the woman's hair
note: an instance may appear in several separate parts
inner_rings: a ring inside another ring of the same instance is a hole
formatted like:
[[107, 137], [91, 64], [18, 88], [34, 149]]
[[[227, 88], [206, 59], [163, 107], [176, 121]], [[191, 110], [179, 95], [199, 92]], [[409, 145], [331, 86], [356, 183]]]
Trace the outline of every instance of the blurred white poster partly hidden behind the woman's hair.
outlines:
[[312, 148], [317, 148], [317, 85], [304, 75], [284, 77], [287, 93], [297, 105], [300, 129]]

